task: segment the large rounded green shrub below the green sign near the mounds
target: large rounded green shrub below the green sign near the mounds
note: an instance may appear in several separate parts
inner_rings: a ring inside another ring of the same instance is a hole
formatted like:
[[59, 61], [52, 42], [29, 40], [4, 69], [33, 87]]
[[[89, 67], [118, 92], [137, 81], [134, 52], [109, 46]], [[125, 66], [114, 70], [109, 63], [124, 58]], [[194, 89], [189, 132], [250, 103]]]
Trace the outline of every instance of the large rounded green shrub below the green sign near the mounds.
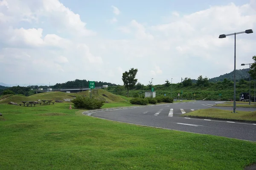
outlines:
[[90, 99], [89, 97], [78, 96], [76, 99], [73, 99], [72, 102], [76, 108], [85, 108], [85, 109], [99, 109], [104, 105], [104, 101], [99, 99]]

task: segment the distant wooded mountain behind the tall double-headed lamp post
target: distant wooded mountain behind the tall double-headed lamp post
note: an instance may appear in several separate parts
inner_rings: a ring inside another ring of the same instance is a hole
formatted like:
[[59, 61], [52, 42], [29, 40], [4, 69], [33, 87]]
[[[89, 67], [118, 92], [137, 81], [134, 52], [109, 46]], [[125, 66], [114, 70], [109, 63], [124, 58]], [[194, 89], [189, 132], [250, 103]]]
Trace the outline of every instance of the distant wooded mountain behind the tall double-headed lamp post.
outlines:
[[[250, 74], [248, 73], [249, 68], [244, 68], [240, 70], [236, 70], [236, 81], [239, 81], [240, 79], [248, 79]], [[209, 79], [209, 82], [218, 82], [218, 81], [223, 81], [224, 79], [229, 79], [234, 81], [234, 71], [231, 71], [230, 73], [223, 74], [219, 77], [213, 77]]]

